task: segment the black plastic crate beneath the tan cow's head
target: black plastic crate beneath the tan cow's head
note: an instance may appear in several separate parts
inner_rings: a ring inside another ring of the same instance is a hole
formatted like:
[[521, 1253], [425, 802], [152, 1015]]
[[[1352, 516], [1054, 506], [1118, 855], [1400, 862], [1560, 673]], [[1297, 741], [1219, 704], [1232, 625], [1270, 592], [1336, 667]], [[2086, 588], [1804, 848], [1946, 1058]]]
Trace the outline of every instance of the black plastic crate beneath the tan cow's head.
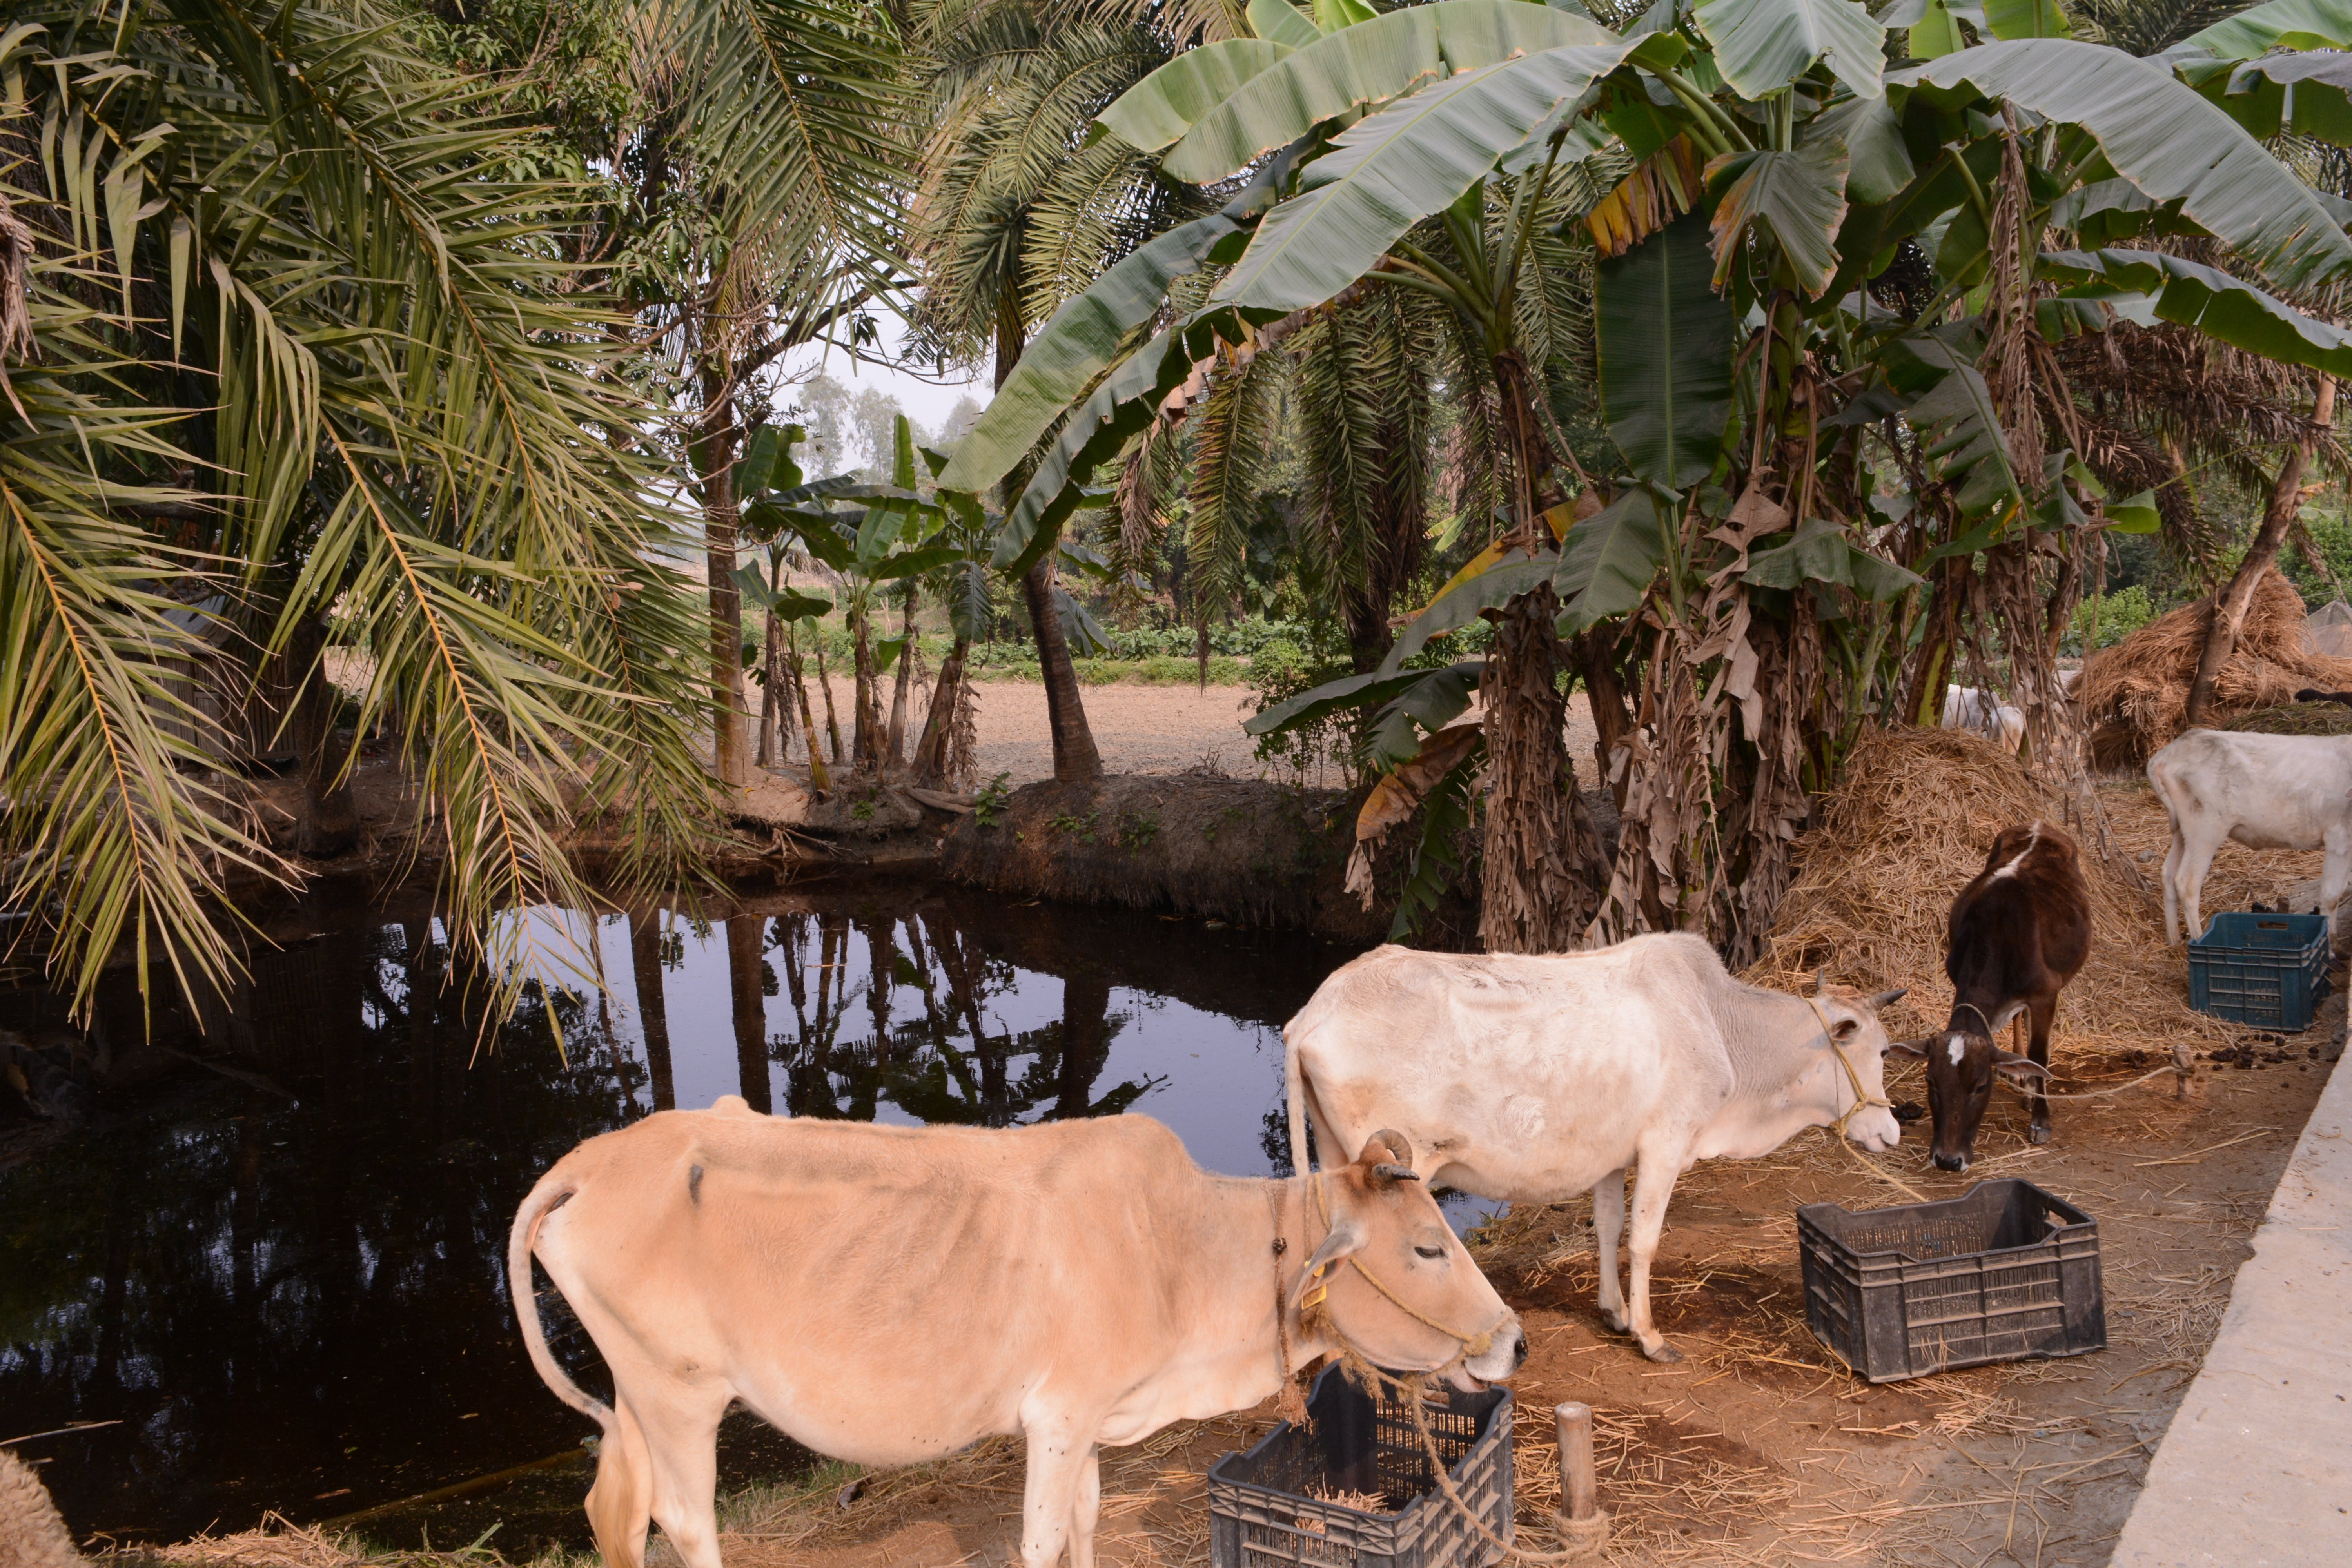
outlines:
[[[1510, 1540], [1510, 1389], [1423, 1406], [1454, 1490]], [[1310, 1497], [1378, 1493], [1395, 1514]], [[1308, 1427], [1282, 1422], [1209, 1469], [1209, 1568], [1486, 1568], [1482, 1540], [1430, 1474], [1414, 1413], [1371, 1399], [1336, 1366], [1308, 1396]]]

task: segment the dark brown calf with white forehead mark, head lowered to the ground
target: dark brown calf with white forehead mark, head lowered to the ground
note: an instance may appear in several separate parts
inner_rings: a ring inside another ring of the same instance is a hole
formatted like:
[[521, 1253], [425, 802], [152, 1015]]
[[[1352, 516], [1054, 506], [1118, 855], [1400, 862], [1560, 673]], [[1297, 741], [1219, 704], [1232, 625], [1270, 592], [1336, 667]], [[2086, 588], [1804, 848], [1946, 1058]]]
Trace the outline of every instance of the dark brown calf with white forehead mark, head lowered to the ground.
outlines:
[[[1952, 980], [1952, 1018], [1926, 1039], [1896, 1041], [1889, 1056], [1926, 1060], [1926, 1100], [1936, 1112], [1936, 1164], [1966, 1171], [1976, 1128], [1992, 1103], [1992, 1079], [2025, 1091], [2032, 1140], [2051, 1138], [2051, 1103], [2042, 1095], [2051, 1065], [2051, 1018], [2058, 990], [2091, 954], [2091, 891], [2082, 882], [2074, 839], [2049, 823], [2004, 827], [1985, 870], [1952, 900], [1943, 973]], [[1992, 1044], [2018, 1013], [2032, 1020], [2030, 1056]]]

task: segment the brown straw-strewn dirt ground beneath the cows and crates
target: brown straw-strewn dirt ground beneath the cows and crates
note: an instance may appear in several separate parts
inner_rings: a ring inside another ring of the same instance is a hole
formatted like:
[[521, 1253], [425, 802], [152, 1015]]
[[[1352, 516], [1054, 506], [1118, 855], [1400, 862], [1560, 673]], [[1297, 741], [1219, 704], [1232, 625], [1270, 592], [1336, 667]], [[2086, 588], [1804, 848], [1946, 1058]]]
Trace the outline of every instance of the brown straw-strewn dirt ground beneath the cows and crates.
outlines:
[[[1590, 1204], [1522, 1211], [1482, 1246], [1534, 1354], [1512, 1380], [1522, 1542], [1555, 1547], [1550, 1406], [1599, 1422], [1611, 1563], [2105, 1563], [2157, 1439], [2197, 1373], [2230, 1279], [2340, 1051], [2343, 1001], [2305, 1034], [2220, 1067], [2201, 1100], [2166, 1079], [2058, 1105], [2058, 1140], [2023, 1140], [2004, 1095], [1966, 1175], [1926, 1168], [1924, 1121], [1891, 1168], [1926, 1197], [2023, 1175], [2100, 1225], [2107, 1342], [2067, 1361], [1867, 1385], [1804, 1326], [1795, 1208], [1905, 1201], [1823, 1133], [1759, 1161], [1710, 1161], [1675, 1192], [1656, 1262], [1658, 1324], [1686, 1354], [1651, 1366], [1592, 1309]], [[2267, 1060], [2281, 1058], [2281, 1060]], [[2070, 1088], [2124, 1084], [2117, 1058]], [[1924, 1098], [1917, 1074], [1891, 1095]], [[1105, 1455], [1105, 1568], [1207, 1561], [1204, 1472], [1272, 1425], [1272, 1408], [1181, 1425]], [[734, 1509], [736, 1568], [1016, 1561], [1021, 1450], [1000, 1441], [922, 1472], [877, 1474], [840, 1507], [771, 1493]]]

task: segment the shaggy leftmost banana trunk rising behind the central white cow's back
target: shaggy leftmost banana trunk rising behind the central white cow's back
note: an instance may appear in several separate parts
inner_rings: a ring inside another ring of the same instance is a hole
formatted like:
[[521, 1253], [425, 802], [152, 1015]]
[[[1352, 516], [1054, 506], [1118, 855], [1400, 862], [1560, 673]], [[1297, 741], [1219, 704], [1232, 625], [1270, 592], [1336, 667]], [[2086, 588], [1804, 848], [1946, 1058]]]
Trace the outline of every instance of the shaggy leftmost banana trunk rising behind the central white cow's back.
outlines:
[[1552, 621], [1543, 585], [1496, 623], [1479, 677], [1486, 705], [1486, 837], [1479, 940], [1486, 952], [1569, 952], [1599, 903], [1599, 835], [1576, 792], [1566, 705], [1552, 686]]

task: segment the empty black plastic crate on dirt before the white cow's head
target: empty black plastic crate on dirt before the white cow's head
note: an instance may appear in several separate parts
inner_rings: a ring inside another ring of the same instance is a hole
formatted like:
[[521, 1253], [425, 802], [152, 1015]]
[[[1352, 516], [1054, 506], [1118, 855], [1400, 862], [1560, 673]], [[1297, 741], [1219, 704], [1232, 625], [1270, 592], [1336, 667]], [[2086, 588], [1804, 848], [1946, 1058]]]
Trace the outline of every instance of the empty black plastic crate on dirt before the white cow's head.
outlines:
[[1870, 1382], [2107, 1347], [2098, 1222], [2023, 1180], [1797, 1211], [1804, 1321]]

